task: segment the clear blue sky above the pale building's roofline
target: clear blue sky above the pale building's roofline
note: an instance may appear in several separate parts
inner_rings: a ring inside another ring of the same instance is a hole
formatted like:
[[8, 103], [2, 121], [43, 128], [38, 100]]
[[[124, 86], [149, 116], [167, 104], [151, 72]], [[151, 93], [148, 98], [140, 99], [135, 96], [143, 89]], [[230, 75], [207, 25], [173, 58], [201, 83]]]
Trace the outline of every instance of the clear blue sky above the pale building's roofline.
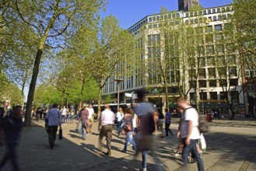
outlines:
[[[109, 0], [106, 12], [101, 16], [116, 16], [120, 26], [128, 29], [145, 16], [160, 13], [162, 6], [167, 7], [169, 11], [177, 10], [177, 2], [178, 0]], [[232, 0], [199, 0], [204, 8], [229, 5], [232, 2]]]

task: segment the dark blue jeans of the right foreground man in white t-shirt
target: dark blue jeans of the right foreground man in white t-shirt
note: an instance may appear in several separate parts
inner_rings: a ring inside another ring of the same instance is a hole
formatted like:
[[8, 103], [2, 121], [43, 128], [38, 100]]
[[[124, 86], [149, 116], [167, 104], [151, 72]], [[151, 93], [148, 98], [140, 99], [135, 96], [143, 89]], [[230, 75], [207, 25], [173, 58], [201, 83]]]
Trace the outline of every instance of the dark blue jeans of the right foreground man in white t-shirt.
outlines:
[[182, 152], [182, 160], [184, 163], [184, 166], [188, 165], [188, 155], [191, 152], [192, 155], [195, 157], [197, 164], [198, 164], [198, 170], [204, 171], [204, 164], [202, 162], [201, 156], [198, 154], [198, 149], [196, 148], [196, 144], [198, 140], [190, 140], [190, 145], [186, 145], [186, 138], [182, 138], [182, 143], [184, 145], [183, 152]]

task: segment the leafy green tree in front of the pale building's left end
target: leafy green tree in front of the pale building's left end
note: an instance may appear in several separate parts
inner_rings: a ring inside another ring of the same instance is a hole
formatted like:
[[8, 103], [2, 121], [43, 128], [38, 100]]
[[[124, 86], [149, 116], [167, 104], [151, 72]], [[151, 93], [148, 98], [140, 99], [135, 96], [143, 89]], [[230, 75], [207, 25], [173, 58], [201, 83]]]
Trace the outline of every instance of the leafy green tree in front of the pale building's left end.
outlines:
[[132, 60], [134, 58], [135, 39], [127, 30], [121, 30], [114, 16], [107, 16], [102, 20], [98, 33], [96, 51], [89, 55], [88, 64], [93, 79], [99, 89], [98, 115], [100, 115], [100, 104], [102, 89], [112, 76], [121, 78], [131, 75]]

